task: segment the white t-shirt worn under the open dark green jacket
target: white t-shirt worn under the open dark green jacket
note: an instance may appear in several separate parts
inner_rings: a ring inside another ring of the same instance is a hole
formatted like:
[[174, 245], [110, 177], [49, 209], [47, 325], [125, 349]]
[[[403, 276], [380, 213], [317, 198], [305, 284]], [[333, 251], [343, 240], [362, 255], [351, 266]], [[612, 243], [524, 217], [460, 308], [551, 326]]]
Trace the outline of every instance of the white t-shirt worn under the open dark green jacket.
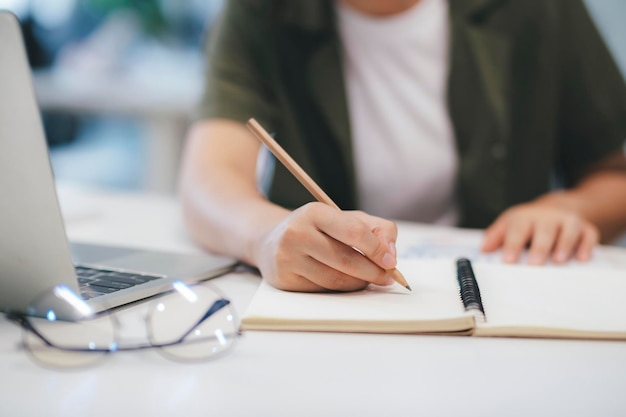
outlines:
[[448, 5], [390, 17], [337, 1], [360, 207], [455, 225], [457, 154], [447, 107]]

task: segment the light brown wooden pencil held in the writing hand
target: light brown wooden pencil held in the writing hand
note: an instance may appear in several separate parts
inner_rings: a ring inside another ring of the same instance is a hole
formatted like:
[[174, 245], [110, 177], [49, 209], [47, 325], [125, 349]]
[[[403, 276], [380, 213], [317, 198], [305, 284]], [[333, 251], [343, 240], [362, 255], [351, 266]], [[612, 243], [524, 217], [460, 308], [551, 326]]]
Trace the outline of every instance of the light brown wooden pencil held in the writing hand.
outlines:
[[[285, 151], [275, 140], [270, 136], [269, 133], [257, 122], [255, 119], [250, 119], [246, 123], [246, 126], [254, 135], [265, 145], [267, 148], [274, 154], [274, 156], [291, 172], [300, 183], [315, 197], [315, 199], [321, 203], [327, 204], [331, 207], [335, 207], [336, 209], [340, 209], [337, 204], [320, 188], [319, 185], [313, 178], [311, 178], [301, 167], [298, 165], [296, 161]], [[357, 252], [361, 252], [359, 249], [354, 248]], [[404, 276], [398, 271], [396, 268], [387, 270], [389, 275], [396, 281], [398, 284], [402, 285], [408, 290], [411, 290], [411, 287], [407, 283]]]

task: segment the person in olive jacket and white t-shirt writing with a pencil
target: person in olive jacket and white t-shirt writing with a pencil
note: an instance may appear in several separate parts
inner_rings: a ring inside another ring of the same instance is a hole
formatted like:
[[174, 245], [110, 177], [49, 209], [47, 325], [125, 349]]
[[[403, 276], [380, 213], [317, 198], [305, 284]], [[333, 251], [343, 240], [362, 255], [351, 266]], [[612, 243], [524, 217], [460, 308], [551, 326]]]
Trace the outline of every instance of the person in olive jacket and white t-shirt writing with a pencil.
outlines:
[[[211, 40], [187, 223], [278, 288], [393, 283], [385, 218], [486, 227], [538, 265], [626, 228], [626, 88], [579, 0], [231, 0]], [[250, 117], [363, 211], [281, 166], [259, 191]]]

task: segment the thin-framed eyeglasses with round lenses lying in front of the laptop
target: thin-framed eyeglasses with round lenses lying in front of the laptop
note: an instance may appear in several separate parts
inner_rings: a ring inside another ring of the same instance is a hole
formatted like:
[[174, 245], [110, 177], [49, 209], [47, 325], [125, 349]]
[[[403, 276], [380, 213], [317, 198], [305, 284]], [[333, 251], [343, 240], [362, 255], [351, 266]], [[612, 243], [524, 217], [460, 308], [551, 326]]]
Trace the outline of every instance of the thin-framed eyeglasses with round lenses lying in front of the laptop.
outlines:
[[123, 343], [117, 313], [93, 314], [66, 286], [38, 297], [27, 314], [6, 313], [23, 329], [22, 345], [40, 365], [77, 368], [110, 353], [156, 349], [176, 361], [200, 361], [223, 354], [241, 334], [231, 302], [207, 283], [174, 281], [143, 317], [147, 341]]

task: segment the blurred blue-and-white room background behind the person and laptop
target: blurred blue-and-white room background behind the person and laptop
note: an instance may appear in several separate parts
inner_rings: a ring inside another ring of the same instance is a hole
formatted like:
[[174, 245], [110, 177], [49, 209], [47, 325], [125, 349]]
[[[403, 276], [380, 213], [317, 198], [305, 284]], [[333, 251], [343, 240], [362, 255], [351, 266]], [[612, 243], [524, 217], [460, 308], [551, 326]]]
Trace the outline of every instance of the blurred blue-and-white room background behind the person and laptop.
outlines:
[[[228, 0], [0, 0], [23, 24], [57, 180], [172, 193]], [[626, 1], [587, 0], [626, 74]]]

